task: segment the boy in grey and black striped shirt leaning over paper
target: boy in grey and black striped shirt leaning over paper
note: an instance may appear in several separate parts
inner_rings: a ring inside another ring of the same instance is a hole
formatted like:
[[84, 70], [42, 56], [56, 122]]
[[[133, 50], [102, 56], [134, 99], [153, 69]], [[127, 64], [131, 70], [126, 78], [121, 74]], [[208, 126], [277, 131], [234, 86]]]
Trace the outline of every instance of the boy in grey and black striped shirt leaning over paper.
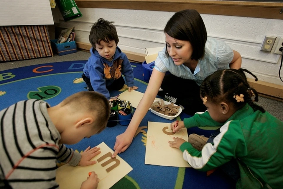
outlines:
[[[90, 160], [99, 148], [88, 147], [80, 154], [64, 144], [100, 133], [109, 113], [108, 100], [90, 91], [73, 94], [54, 107], [32, 99], [0, 111], [0, 188], [59, 188], [57, 160], [72, 166], [95, 164]], [[98, 182], [91, 174], [81, 188], [97, 188]]]

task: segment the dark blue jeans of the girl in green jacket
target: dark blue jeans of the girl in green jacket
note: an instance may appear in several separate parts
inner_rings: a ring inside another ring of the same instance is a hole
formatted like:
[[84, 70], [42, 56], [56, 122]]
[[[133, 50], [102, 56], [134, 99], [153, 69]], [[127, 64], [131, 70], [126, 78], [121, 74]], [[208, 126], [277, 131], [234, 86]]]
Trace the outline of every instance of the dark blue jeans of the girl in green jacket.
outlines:
[[[213, 139], [219, 133], [220, 133], [220, 128], [211, 134], [211, 136], [208, 138], [208, 141], [206, 143], [213, 144]], [[231, 161], [221, 165], [219, 169], [235, 181], [237, 181], [240, 178], [240, 170], [236, 159], [231, 159]]]

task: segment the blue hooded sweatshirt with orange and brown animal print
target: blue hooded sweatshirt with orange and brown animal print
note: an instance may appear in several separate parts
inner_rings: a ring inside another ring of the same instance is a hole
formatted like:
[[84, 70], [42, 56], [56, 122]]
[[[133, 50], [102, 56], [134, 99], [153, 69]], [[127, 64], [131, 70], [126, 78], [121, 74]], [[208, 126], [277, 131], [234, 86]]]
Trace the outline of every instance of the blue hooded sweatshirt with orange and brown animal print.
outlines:
[[91, 86], [96, 92], [102, 93], [106, 98], [110, 98], [109, 86], [114, 80], [119, 79], [121, 74], [126, 78], [128, 87], [134, 86], [134, 72], [128, 57], [116, 47], [116, 52], [112, 61], [108, 61], [99, 55], [95, 48], [90, 50], [91, 56], [83, 69], [83, 73], [91, 80]]

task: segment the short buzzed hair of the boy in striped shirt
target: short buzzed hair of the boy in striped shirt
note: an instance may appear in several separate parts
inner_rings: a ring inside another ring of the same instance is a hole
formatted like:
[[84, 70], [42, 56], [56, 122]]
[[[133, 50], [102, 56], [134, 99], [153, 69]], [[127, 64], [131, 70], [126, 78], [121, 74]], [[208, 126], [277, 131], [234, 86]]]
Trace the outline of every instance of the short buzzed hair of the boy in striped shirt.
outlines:
[[66, 105], [70, 106], [74, 112], [84, 110], [95, 113], [96, 120], [94, 120], [94, 123], [98, 133], [106, 128], [110, 116], [110, 106], [109, 101], [101, 93], [94, 91], [77, 92], [62, 101], [62, 106]]

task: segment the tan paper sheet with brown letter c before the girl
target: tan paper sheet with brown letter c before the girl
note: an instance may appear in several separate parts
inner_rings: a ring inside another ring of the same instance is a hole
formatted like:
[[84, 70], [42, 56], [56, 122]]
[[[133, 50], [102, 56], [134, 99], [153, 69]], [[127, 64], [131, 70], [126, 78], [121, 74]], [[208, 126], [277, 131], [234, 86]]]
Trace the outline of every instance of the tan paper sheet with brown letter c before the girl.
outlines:
[[[147, 126], [147, 148], [145, 151], [145, 164], [191, 167], [184, 159], [180, 149], [169, 146], [168, 141], [174, 141], [172, 137], [179, 137], [188, 141], [186, 128], [177, 133], [168, 133], [170, 123], [148, 122]], [[165, 132], [165, 133], [164, 133]]]

